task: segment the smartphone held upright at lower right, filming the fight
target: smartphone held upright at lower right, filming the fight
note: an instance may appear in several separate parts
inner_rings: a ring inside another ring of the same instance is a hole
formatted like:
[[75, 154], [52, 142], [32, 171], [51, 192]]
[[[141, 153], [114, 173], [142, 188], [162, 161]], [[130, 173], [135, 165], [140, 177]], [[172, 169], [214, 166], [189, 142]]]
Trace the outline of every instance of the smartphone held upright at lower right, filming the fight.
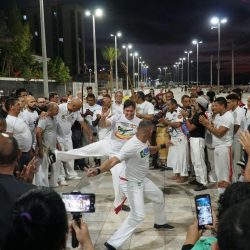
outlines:
[[195, 196], [195, 207], [198, 228], [205, 229], [206, 225], [213, 225], [212, 206], [209, 194]]

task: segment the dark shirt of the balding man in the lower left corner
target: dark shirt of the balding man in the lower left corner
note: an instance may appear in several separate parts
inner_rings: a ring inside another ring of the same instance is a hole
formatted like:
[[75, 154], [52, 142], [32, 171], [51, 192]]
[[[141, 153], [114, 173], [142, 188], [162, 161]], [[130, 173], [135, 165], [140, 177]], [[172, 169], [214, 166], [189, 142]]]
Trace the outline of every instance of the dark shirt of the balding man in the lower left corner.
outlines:
[[18, 180], [13, 175], [0, 174], [0, 248], [12, 222], [15, 201], [34, 185]]

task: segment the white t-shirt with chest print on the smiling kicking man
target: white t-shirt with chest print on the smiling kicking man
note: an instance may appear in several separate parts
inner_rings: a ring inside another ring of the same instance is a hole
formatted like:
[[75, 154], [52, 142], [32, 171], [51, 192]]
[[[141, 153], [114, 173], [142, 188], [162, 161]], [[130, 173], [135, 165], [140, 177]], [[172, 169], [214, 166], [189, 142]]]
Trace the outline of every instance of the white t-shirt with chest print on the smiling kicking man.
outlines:
[[112, 150], [117, 152], [126, 141], [136, 134], [141, 119], [135, 116], [132, 120], [128, 120], [122, 114], [112, 116], [108, 120], [111, 122], [111, 133], [108, 140]]

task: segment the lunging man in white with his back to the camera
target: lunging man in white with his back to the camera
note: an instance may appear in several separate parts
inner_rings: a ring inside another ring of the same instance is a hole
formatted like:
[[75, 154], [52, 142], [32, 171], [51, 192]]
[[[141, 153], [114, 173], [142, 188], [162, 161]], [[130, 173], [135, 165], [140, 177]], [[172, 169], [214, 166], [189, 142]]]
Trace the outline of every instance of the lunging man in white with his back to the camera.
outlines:
[[162, 191], [146, 177], [149, 171], [149, 154], [156, 153], [160, 149], [158, 146], [149, 147], [147, 144], [152, 132], [153, 124], [150, 121], [141, 121], [136, 135], [123, 145], [120, 152], [105, 161], [99, 168], [89, 170], [88, 176], [95, 176], [112, 169], [122, 161], [126, 162], [126, 184], [123, 186], [127, 189], [131, 211], [120, 228], [105, 242], [104, 245], [109, 250], [121, 246], [144, 220], [144, 196], [154, 202], [154, 228], [168, 230], [174, 228], [167, 224]]

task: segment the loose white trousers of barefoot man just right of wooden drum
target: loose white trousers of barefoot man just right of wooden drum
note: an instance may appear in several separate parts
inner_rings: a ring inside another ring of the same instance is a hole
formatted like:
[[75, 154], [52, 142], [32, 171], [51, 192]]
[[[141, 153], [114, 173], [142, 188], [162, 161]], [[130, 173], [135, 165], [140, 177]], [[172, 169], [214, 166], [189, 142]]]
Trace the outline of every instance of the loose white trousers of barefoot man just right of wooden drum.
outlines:
[[173, 146], [169, 147], [167, 166], [173, 168], [174, 174], [188, 176], [189, 155], [188, 141], [185, 136], [171, 138]]

